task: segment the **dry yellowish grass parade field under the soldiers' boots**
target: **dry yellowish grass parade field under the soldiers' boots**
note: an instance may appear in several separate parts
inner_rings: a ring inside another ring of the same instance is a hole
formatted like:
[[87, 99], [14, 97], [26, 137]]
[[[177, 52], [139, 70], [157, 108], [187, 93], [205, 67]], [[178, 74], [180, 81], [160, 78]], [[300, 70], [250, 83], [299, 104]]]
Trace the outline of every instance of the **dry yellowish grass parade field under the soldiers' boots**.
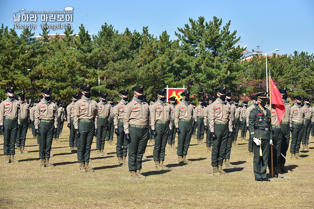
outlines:
[[165, 165], [170, 168], [166, 171], [154, 170], [154, 147], [148, 146], [142, 169], [146, 179], [130, 180], [127, 165], [117, 165], [116, 147], [106, 143], [108, 156], [97, 157], [95, 139], [90, 155], [95, 172], [79, 173], [77, 155], [69, 152], [68, 135], [65, 123], [61, 142], [52, 143], [54, 168], [40, 168], [31, 131], [25, 147], [29, 153], [15, 155], [19, 163], [4, 163], [1, 139], [1, 209], [314, 208], [314, 144], [309, 145], [311, 152], [301, 152], [302, 160], [291, 159], [289, 154], [286, 166], [292, 172], [270, 182], [254, 181], [253, 157], [240, 138], [240, 146], [231, 149], [230, 162], [236, 168], [225, 169], [228, 176], [211, 176], [211, 157], [206, 145], [196, 145], [196, 138], [191, 139], [187, 155], [192, 163], [178, 164], [176, 151], [166, 148]]

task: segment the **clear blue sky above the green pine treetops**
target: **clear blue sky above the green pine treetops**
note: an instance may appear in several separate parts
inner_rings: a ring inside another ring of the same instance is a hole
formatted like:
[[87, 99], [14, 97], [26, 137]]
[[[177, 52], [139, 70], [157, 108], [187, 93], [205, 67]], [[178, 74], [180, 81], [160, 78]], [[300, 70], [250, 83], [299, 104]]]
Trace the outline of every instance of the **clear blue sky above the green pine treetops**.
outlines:
[[[47, 2], [47, 3], [46, 3]], [[149, 26], [149, 33], [158, 36], [167, 31], [171, 40], [177, 39], [175, 31], [189, 23], [189, 18], [205, 21], [213, 16], [221, 18], [223, 25], [231, 20], [230, 30], [237, 30], [241, 46], [264, 53], [279, 48], [278, 54], [293, 54], [294, 51], [314, 53], [314, 1], [1, 1], [0, 23], [14, 28], [13, 14], [19, 9], [26, 11], [63, 11], [73, 7], [74, 33], [83, 24], [91, 34], [97, 34], [105, 22], [123, 32], [142, 31]], [[18, 14], [18, 13], [17, 13]], [[21, 15], [24, 13], [20, 13]], [[41, 33], [40, 14], [37, 15], [35, 35]], [[28, 24], [31, 22], [21, 22]], [[48, 23], [52, 24], [52, 23]], [[58, 23], [53, 23], [58, 24]], [[22, 29], [16, 29], [20, 34]], [[50, 34], [64, 33], [64, 29], [50, 30]]]

